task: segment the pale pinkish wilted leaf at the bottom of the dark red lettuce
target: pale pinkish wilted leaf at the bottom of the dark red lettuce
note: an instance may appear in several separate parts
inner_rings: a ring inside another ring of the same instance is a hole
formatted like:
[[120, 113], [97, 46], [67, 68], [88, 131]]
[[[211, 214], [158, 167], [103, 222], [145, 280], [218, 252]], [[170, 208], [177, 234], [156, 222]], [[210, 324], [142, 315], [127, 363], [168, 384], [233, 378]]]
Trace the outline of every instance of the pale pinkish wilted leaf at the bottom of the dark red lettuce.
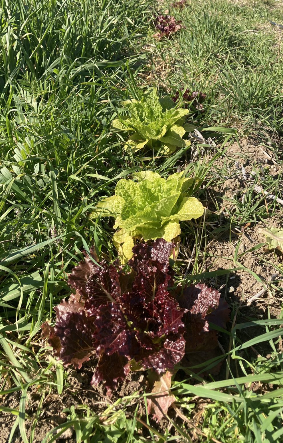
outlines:
[[151, 373], [151, 395], [147, 397], [147, 411], [153, 414], [153, 418], [160, 421], [167, 414], [169, 407], [176, 400], [170, 392], [172, 372], [166, 371], [161, 376]]

